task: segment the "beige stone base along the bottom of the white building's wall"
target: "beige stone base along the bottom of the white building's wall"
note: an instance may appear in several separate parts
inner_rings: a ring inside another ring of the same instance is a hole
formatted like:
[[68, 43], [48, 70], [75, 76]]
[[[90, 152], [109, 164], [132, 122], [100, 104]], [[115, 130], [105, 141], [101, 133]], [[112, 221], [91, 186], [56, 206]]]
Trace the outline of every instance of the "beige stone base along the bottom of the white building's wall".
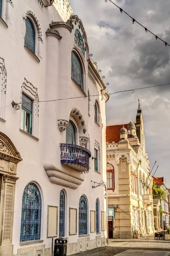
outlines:
[[[104, 247], [105, 237], [96, 236], [96, 239], [90, 240], [89, 237], [81, 237], [77, 240], [77, 243], [72, 243], [67, 245], [67, 255], [71, 255], [74, 253], [79, 253], [85, 250], [91, 250], [97, 247]], [[1, 247], [0, 247], [1, 248]], [[12, 246], [13, 252], [13, 246]], [[9, 254], [0, 254], [0, 256], [51, 256], [51, 248], [45, 248], [45, 245], [38, 246], [30, 246], [23, 247], [17, 250], [17, 254], [13, 255], [13, 253]], [[1, 253], [1, 251], [0, 251]]]

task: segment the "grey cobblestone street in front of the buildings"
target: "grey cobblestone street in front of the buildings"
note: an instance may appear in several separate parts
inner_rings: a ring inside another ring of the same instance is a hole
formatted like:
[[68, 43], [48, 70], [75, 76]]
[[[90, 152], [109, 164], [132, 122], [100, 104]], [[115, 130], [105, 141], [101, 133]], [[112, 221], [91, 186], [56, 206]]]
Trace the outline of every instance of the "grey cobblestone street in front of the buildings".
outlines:
[[140, 239], [109, 239], [108, 247], [74, 254], [75, 256], [170, 256], [170, 241], [155, 240], [153, 235]]

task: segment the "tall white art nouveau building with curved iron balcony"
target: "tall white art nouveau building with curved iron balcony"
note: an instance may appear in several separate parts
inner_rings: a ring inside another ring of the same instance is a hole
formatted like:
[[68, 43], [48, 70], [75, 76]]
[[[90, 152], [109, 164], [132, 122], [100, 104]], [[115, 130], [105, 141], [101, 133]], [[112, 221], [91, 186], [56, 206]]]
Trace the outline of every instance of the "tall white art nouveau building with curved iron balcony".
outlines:
[[68, 0], [0, 0], [0, 35], [0, 255], [104, 246], [109, 95], [83, 24]]

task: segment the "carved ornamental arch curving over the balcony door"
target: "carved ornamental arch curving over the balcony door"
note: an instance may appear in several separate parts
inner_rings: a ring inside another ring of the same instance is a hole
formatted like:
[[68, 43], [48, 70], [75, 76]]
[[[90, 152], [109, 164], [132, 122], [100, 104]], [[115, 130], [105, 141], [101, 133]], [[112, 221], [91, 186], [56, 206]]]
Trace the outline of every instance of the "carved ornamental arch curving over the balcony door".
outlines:
[[83, 119], [82, 113], [77, 110], [76, 108], [72, 109], [71, 116], [74, 117], [74, 119], [77, 122], [78, 128], [79, 128], [79, 141], [80, 141], [80, 145], [85, 145], [88, 141], [88, 137], [86, 137], [85, 135], [88, 134], [88, 125], [86, 125], [85, 120]]

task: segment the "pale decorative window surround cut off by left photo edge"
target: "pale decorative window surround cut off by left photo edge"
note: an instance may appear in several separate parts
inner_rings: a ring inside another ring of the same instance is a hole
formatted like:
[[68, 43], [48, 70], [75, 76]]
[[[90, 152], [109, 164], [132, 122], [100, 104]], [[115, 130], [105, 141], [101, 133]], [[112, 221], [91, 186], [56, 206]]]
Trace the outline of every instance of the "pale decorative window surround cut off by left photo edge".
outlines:
[[0, 118], [5, 119], [6, 108], [6, 83], [7, 73], [5, 62], [3, 58], [0, 58]]

